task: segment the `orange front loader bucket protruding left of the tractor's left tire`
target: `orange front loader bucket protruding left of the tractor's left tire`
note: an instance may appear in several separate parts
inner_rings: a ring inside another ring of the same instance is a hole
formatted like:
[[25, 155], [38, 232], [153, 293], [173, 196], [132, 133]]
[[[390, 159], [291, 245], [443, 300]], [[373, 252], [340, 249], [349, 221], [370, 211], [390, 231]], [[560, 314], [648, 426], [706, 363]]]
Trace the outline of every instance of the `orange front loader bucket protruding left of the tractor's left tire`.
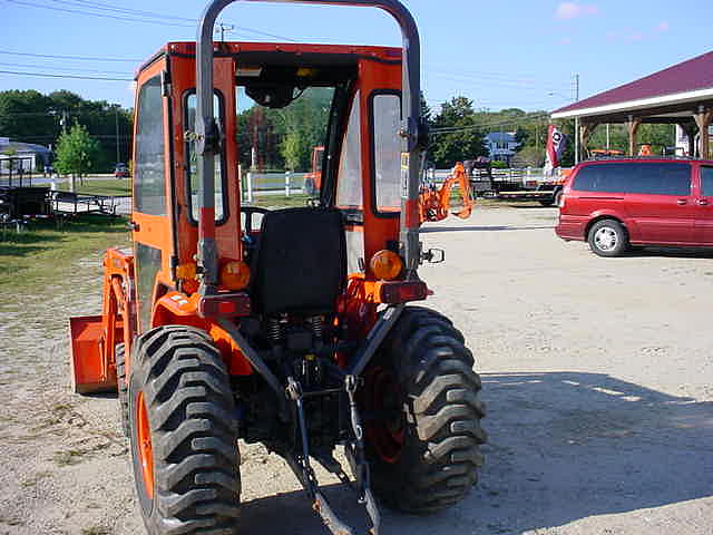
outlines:
[[100, 315], [69, 319], [71, 381], [77, 393], [116, 391], [116, 371], [104, 354], [104, 322]]

